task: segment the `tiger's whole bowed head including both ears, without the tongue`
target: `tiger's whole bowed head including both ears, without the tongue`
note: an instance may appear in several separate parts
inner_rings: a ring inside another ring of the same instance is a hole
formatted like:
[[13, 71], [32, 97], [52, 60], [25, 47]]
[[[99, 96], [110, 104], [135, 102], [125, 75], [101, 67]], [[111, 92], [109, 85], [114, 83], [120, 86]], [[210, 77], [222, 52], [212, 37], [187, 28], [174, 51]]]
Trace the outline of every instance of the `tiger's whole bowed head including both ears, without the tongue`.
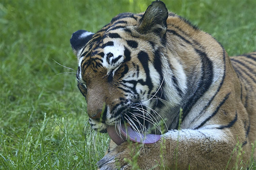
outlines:
[[79, 61], [76, 79], [93, 129], [104, 133], [108, 126], [127, 122], [147, 131], [176, 109], [186, 85], [179, 81], [177, 91], [175, 82], [168, 82], [167, 18], [165, 4], [155, 1], [145, 13], [115, 16], [97, 33], [72, 34]]

